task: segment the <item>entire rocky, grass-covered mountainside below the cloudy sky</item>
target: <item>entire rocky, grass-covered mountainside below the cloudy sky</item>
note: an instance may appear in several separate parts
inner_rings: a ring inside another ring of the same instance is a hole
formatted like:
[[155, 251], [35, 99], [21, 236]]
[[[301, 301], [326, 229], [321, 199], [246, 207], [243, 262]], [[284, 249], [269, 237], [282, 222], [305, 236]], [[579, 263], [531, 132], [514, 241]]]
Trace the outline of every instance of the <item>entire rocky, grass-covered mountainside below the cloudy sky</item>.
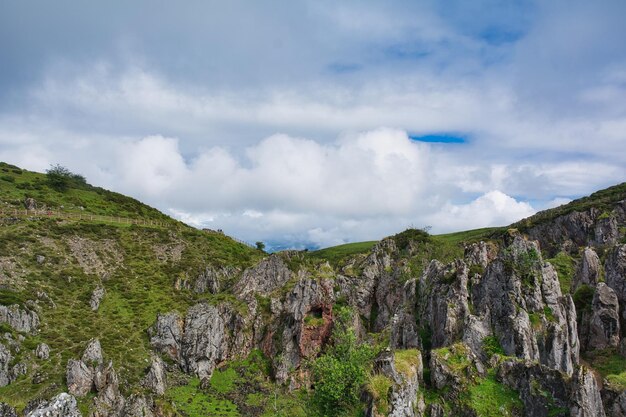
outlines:
[[0, 164], [0, 417], [626, 416], [626, 183], [268, 255], [52, 174]]

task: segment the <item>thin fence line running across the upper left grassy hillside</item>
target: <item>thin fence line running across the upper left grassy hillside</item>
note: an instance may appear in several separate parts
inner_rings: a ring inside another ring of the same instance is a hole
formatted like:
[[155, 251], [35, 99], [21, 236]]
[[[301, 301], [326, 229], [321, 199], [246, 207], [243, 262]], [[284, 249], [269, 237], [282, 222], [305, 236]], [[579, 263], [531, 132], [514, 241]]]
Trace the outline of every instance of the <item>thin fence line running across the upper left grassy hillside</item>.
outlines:
[[[57, 211], [57, 210], [28, 210], [28, 209], [0, 209], [0, 220], [7, 220], [12, 218], [23, 218], [23, 217], [39, 217], [39, 218], [60, 218], [67, 220], [76, 220], [76, 221], [100, 221], [107, 223], [117, 223], [117, 224], [131, 224], [137, 226], [146, 226], [146, 227], [166, 227], [166, 222], [161, 222], [157, 220], [149, 220], [149, 219], [141, 219], [141, 218], [130, 218], [130, 217], [121, 217], [121, 216], [105, 216], [101, 214], [87, 214], [87, 213], [72, 213], [65, 211]], [[223, 234], [223, 233], [222, 233]], [[226, 236], [226, 235], [225, 235]], [[256, 246], [243, 241], [241, 239], [237, 239], [236, 237], [227, 236], [234, 240], [237, 243], [241, 243], [242, 245], [246, 245], [252, 249], [256, 249]]]

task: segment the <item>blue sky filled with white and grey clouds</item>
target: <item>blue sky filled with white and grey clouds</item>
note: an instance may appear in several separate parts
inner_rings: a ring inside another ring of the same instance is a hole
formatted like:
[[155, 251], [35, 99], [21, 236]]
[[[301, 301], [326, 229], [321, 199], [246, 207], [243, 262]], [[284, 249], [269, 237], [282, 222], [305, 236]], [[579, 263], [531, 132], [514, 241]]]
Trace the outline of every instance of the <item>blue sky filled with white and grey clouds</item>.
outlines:
[[0, 160], [270, 249], [626, 181], [626, 2], [0, 2]]

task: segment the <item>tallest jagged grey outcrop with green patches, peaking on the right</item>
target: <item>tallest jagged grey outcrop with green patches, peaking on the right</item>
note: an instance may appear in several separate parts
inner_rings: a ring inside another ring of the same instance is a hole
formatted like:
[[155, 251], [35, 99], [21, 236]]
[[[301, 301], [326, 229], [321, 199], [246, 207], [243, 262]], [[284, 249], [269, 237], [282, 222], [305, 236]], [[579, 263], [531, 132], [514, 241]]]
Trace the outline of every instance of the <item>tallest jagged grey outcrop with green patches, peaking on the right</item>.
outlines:
[[573, 372], [579, 356], [574, 303], [561, 294], [556, 271], [543, 262], [537, 242], [512, 236], [472, 286], [472, 303], [476, 318], [468, 323], [474, 330], [489, 323], [507, 355]]

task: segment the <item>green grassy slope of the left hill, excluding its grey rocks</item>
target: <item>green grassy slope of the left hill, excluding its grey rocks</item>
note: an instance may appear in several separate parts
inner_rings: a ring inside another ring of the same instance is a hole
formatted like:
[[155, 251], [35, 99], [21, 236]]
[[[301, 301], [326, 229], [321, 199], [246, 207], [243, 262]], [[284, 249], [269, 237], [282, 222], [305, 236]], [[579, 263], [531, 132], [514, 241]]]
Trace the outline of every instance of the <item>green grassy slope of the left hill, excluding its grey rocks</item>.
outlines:
[[[139, 201], [86, 183], [56, 190], [46, 175], [0, 164], [0, 204], [23, 209], [26, 198], [38, 207], [82, 213], [154, 219], [167, 227], [103, 224], [52, 218], [0, 221], [0, 304], [29, 305], [41, 318], [36, 335], [3, 325], [0, 333], [25, 337], [26, 349], [45, 342], [51, 359], [33, 358], [26, 377], [0, 388], [0, 398], [18, 407], [35, 397], [64, 391], [65, 366], [78, 358], [85, 343], [99, 338], [126, 389], [134, 389], [149, 359], [146, 329], [158, 312], [187, 307], [201, 299], [219, 302], [230, 296], [196, 294], [175, 286], [206, 267], [244, 269], [263, 253], [219, 233], [188, 227]], [[232, 283], [224, 283], [225, 291]], [[97, 312], [89, 300], [97, 286], [106, 295]], [[245, 308], [245, 306], [242, 306]], [[14, 362], [21, 360], [18, 356]], [[41, 383], [32, 383], [38, 375]], [[91, 398], [81, 400], [85, 407]]]

